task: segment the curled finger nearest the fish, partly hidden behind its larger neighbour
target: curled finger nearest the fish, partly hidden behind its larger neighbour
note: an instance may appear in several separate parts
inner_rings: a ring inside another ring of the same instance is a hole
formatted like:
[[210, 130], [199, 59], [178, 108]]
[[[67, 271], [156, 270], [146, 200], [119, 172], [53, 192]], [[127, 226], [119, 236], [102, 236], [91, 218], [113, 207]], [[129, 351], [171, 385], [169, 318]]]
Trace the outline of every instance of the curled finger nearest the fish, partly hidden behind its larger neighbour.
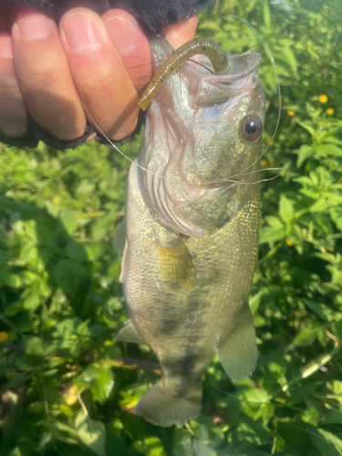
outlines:
[[102, 20], [134, 88], [140, 93], [153, 76], [147, 36], [137, 20], [122, 9], [108, 11]]

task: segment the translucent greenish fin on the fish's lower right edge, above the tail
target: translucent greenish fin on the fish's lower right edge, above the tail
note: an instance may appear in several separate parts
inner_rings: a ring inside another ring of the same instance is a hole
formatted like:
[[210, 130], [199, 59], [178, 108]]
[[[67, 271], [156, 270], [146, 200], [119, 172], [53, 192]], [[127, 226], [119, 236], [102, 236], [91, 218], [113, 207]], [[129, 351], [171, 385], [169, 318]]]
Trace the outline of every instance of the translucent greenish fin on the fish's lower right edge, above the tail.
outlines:
[[232, 380], [241, 380], [251, 375], [256, 365], [257, 348], [253, 318], [248, 306], [233, 332], [220, 342], [217, 351], [227, 376]]

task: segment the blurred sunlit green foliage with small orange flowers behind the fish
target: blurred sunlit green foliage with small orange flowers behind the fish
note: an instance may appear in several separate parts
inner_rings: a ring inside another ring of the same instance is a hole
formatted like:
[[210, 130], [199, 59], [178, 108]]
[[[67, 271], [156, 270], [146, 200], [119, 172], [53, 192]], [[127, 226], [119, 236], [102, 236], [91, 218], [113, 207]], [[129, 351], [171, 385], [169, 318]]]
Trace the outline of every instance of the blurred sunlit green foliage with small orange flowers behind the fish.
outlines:
[[[160, 371], [113, 340], [128, 318], [112, 240], [130, 162], [94, 142], [0, 145], [1, 456], [342, 455], [340, 0], [221, 0], [198, 36], [264, 56], [261, 179], [281, 171], [261, 183], [253, 378], [231, 382], [214, 357], [198, 420], [135, 416]], [[122, 150], [134, 159], [141, 140]]]

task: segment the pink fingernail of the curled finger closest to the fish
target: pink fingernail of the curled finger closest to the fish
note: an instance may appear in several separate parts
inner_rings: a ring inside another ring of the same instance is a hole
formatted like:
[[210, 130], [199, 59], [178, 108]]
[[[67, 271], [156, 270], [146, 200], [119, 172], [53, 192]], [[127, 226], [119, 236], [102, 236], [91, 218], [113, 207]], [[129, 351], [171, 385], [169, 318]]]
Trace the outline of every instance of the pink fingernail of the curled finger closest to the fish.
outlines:
[[131, 21], [124, 17], [112, 16], [106, 22], [106, 27], [110, 40], [120, 56], [126, 56], [137, 46], [137, 34], [140, 29]]

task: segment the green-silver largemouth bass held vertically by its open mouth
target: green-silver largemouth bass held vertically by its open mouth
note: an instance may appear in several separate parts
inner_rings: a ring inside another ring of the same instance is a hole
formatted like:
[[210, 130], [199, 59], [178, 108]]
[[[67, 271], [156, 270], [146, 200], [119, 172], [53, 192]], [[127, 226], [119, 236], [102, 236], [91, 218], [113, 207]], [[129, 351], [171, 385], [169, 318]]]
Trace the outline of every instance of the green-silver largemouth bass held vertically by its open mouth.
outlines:
[[[161, 37], [150, 49], [155, 72], [174, 52]], [[115, 339], [157, 356], [161, 379], [135, 413], [161, 427], [200, 414], [215, 351], [233, 380], [251, 375], [257, 359], [248, 299], [259, 240], [261, 56], [228, 56], [223, 75], [207, 57], [193, 60], [149, 100], [114, 240], [130, 311]]]

